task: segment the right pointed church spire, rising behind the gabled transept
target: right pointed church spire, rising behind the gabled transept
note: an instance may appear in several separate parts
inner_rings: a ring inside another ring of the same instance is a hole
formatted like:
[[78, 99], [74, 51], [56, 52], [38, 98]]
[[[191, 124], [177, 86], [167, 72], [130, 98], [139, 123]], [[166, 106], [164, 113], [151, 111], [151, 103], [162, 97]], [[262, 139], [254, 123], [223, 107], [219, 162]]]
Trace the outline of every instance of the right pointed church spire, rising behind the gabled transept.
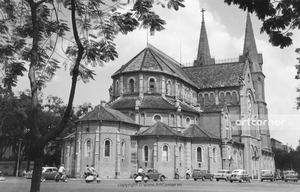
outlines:
[[243, 50], [243, 59], [246, 58], [246, 55], [250, 57], [252, 61], [251, 71], [257, 72], [261, 71], [258, 61], [257, 48], [254, 38], [254, 32], [252, 28], [252, 23], [250, 19], [250, 13], [247, 13], [247, 22], [246, 22], [246, 31], [245, 31], [245, 41], [244, 41], [244, 50]]

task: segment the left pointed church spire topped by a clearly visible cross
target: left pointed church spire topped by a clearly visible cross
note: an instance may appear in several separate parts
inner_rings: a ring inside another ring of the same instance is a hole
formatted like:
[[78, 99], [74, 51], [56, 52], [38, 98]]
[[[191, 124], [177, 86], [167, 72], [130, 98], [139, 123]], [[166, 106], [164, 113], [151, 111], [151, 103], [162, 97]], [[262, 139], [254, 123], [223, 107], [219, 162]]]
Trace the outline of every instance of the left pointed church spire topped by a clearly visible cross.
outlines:
[[204, 11], [205, 10], [203, 10], [203, 9], [201, 11], [202, 12], [202, 22], [201, 22], [199, 47], [198, 47], [197, 60], [194, 61], [194, 65], [209, 65], [209, 64], [211, 64], [211, 56], [210, 56], [207, 32], [206, 32], [205, 22], [204, 22], [204, 14], [203, 14]]

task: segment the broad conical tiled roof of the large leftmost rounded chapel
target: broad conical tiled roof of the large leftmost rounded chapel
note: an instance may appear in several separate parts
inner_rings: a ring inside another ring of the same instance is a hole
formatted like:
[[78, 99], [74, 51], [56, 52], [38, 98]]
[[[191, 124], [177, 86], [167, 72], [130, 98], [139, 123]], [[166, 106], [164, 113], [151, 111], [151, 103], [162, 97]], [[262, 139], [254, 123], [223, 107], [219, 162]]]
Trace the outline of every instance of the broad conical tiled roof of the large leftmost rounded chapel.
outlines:
[[101, 105], [96, 106], [92, 111], [85, 114], [78, 121], [95, 121], [95, 120], [103, 120], [103, 121], [121, 121], [127, 122], [131, 124], [137, 124], [131, 118], [127, 117], [125, 114], [121, 113], [118, 110], [103, 107]]

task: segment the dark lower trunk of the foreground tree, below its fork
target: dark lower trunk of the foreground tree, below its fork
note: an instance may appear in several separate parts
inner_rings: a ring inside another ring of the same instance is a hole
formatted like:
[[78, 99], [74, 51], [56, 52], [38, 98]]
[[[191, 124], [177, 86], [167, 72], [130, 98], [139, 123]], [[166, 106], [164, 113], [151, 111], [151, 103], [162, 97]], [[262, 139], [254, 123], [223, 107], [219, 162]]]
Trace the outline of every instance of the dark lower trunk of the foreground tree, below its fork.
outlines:
[[39, 192], [41, 186], [41, 175], [42, 175], [42, 166], [43, 166], [43, 158], [44, 158], [44, 148], [45, 144], [42, 142], [35, 142], [37, 145], [34, 148], [35, 156], [34, 156], [34, 164], [33, 164], [33, 172], [31, 179], [30, 192]]

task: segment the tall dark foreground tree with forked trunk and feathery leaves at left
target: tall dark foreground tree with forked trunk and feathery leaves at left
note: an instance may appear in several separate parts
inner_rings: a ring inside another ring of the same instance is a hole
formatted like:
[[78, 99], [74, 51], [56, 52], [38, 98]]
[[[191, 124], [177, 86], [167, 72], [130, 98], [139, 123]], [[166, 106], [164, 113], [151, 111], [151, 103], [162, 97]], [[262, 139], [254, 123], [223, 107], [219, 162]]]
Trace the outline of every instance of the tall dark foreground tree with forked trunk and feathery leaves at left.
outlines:
[[[103, 66], [103, 63], [118, 57], [113, 43], [118, 33], [127, 34], [137, 27], [149, 28], [150, 35], [154, 35], [155, 31], [162, 31], [166, 22], [152, 11], [154, 3], [177, 11], [180, 7], [184, 7], [184, 0], [165, 0], [166, 5], [160, 0], [133, 2], [128, 0], [126, 3], [112, 0], [109, 4], [103, 0], [0, 1], [1, 15], [3, 15], [0, 20], [0, 33], [3, 38], [5, 37], [1, 45], [3, 50], [9, 50], [4, 52], [9, 64], [1, 63], [2, 69], [8, 71], [4, 79], [21, 75], [20, 71], [24, 72], [21, 65], [18, 67], [18, 73], [8, 70], [9, 66], [13, 66], [15, 55], [30, 62], [28, 70], [31, 88], [30, 139], [31, 147], [36, 152], [30, 191], [35, 192], [40, 190], [44, 147], [60, 135], [66, 127], [73, 108], [78, 79], [87, 83], [95, 75], [92, 70], [88, 69], [88, 65]], [[125, 13], [118, 12], [126, 6], [132, 6], [132, 8]], [[68, 104], [60, 124], [52, 132], [42, 135], [37, 125], [37, 91], [51, 81], [60, 67], [59, 61], [53, 59], [52, 55], [55, 52], [58, 37], [67, 39], [65, 32], [69, 31], [66, 21], [60, 19], [58, 14], [58, 12], [63, 12], [62, 9], [71, 11], [74, 41], [69, 40], [71, 45], [65, 51], [68, 59], [63, 64], [66, 69], [70, 69], [72, 84]], [[54, 20], [52, 20], [51, 12]], [[93, 33], [94, 30], [97, 31], [96, 34]], [[56, 34], [55, 42], [51, 41], [52, 34]], [[29, 41], [32, 43], [28, 44]], [[6, 44], [9, 46], [5, 46]], [[16, 80], [7, 82], [10, 83], [6, 84], [7, 87], [15, 86], [12, 83], [16, 83]]]

